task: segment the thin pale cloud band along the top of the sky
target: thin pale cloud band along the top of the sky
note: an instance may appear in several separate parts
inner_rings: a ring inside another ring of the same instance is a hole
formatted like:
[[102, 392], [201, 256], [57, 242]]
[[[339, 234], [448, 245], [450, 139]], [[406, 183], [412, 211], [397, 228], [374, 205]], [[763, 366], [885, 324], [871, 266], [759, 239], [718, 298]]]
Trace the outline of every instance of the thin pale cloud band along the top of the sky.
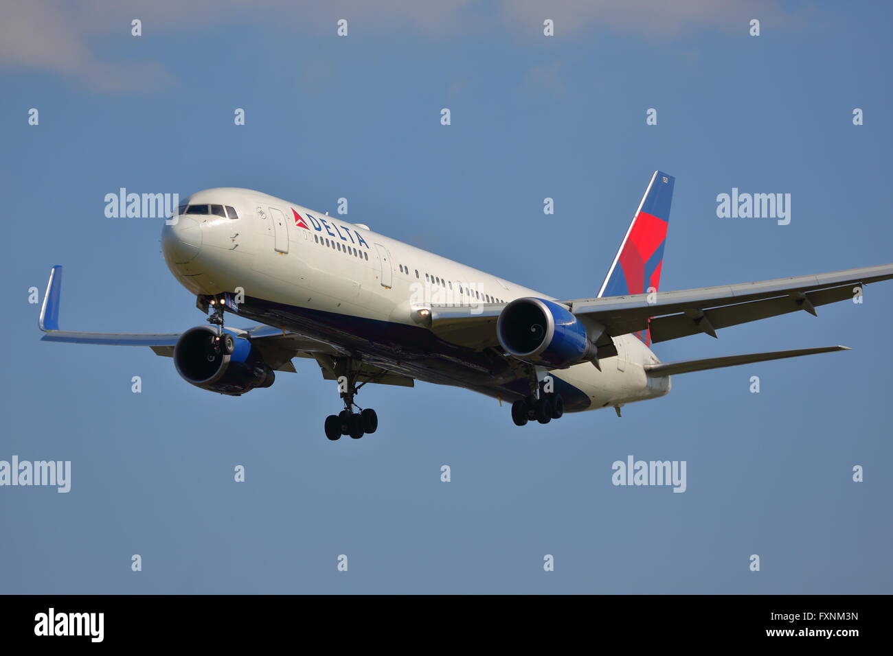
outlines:
[[[546, 18], [555, 37], [586, 37], [605, 29], [646, 37], [676, 37], [692, 29], [747, 29], [760, 18], [786, 16], [773, 0], [502, 0], [496, 15], [472, 0], [4, 0], [0, 67], [49, 71], [104, 91], [152, 90], [172, 77], [157, 62], [104, 57], [100, 40], [129, 35], [143, 21], [142, 38], [177, 29], [199, 32], [215, 24], [252, 23], [265, 29], [335, 34], [346, 18], [351, 34], [422, 38], [542, 37]], [[538, 71], [532, 71], [538, 77]]]

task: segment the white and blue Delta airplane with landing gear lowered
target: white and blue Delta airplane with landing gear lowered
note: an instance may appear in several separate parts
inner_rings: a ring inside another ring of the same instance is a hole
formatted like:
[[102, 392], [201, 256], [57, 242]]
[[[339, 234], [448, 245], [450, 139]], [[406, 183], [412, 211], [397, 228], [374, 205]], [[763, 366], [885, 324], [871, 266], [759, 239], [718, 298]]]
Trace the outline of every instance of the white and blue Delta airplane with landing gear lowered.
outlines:
[[[795, 278], [659, 291], [675, 179], [656, 170], [597, 296], [562, 299], [250, 189], [188, 196], [162, 229], [164, 260], [209, 325], [183, 333], [59, 328], [62, 267], [50, 272], [38, 320], [49, 342], [148, 346], [188, 383], [238, 396], [269, 387], [293, 359], [338, 381], [335, 441], [378, 428], [356, 403], [363, 386], [421, 380], [511, 403], [515, 425], [670, 392], [671, 376], [813, 353], [823, 346], [662, 362], [651, 346], [806, 311], [893, 278], [893, 264]], [[227, 314], [260, 325], [225, 326]]]

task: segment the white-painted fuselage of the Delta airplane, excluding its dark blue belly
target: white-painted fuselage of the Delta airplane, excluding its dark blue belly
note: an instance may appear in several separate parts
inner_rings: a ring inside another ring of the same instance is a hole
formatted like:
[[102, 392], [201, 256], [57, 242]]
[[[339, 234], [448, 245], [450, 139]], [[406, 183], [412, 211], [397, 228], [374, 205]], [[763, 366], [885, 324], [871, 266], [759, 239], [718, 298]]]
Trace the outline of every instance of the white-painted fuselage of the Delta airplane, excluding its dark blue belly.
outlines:
[[[241, 288], [246, 295], [284, 306], [412, 327], [418, 323], [413, 320], [415, 311], [431, 300], [508, 303], [525, 296], [555, 300], [362, 225], [260, 192], [207, 189], [191, 195], [187, 203], [228, 205], [238, 212], [238, 219], [178, 216], [174, 225], [164, 228], [168, 266], [196, 295]], [[551, 374], [587, 394], [588, 410], [669, 392], [669, 378], [645, 375], [643, 365], [658, 362], [646, 345], [631, 335], [615, 337], [614, 343], [618, 355], [603, 360], [601, 370], [584, 362]], [[426, 379], [423, 373], [414, 376]], [[437, 376], [430, 379], [444, 382]], [[463, 386], [463, 381], [449, 384]]]

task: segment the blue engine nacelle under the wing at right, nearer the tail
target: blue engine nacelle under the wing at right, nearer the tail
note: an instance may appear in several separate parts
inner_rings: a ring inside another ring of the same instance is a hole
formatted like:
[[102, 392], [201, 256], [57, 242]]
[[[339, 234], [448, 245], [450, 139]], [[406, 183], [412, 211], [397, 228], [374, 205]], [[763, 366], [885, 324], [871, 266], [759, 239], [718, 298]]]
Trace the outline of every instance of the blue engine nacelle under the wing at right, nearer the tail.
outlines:
[[497, 336], [506, 353], [553, 369], [593, 360], [597, 353], [580, 320], [542, 298], [519, 298], [506, 305], [497, 320]]

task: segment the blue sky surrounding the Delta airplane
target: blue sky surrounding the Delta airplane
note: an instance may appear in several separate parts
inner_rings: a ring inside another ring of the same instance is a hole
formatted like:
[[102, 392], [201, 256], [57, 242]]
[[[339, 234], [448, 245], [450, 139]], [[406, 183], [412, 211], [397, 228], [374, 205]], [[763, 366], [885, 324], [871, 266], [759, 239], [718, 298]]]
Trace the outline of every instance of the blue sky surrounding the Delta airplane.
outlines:
[[[677, 178], [662, 289], [889, 262], [889, 4], [656, 6], [4, 5], [0, 460], [72, 461], [72, 483], [0, 488], [0, 591], [891, 592], [889, 284], [658, 345], [853, 350], [676, 377], [622, 419], [516, 428], [460, 389], [367, 386], [379, 431], [338, 443], [311, 362], [230, 398], [148, 349], [38, 341], [28, 289], [53, 264], [63, 328], [204, 323], [159, 222], [104, 217], [120, 187], [252, 187], [320, 212], [344, 196], [348, 220], [574, 298], [596, 294], [660, 168]], [[791, 194], [790, 224], [717, 218], [732, 187]], [[688, 490], [612, 486], [629, 454], [687, 461]]]

